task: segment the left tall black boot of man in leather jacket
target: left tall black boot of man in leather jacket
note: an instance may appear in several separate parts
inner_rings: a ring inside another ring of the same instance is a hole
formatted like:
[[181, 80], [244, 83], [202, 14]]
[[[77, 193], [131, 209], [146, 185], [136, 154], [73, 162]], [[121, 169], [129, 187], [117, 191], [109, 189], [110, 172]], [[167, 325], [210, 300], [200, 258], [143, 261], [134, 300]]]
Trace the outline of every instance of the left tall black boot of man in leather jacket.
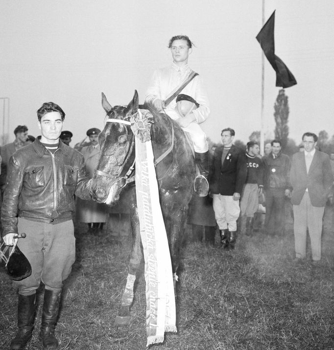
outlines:
[[31, 295], [19, 294], [18, 302], [18, 331], [10, 343], [10, 349], [24, 349], [31, 337], [34, 324], [36, 293]]

